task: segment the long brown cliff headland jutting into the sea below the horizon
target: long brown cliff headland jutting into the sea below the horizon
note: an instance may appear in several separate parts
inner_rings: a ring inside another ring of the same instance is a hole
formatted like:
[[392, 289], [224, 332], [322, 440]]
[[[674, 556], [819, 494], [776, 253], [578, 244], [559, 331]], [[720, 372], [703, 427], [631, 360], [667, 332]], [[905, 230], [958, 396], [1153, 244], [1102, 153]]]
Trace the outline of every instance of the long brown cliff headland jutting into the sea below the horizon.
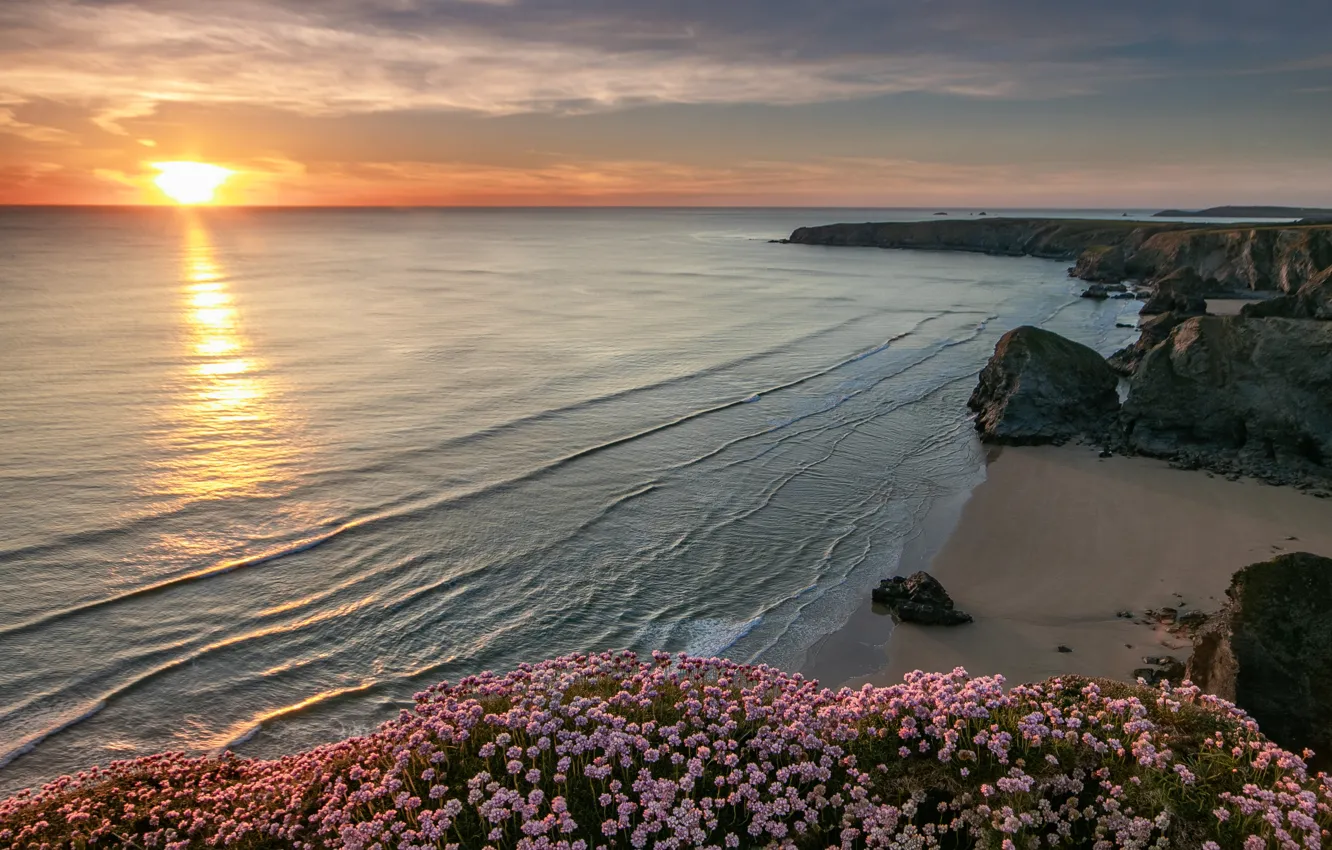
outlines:
[[1155, 284], [1191, 270], [1209, 293], [1293, 293], [1332, 265], [1332, 225], [986, 218], [797, 228], [787, 242], [1070, 260], [1087, 281]]

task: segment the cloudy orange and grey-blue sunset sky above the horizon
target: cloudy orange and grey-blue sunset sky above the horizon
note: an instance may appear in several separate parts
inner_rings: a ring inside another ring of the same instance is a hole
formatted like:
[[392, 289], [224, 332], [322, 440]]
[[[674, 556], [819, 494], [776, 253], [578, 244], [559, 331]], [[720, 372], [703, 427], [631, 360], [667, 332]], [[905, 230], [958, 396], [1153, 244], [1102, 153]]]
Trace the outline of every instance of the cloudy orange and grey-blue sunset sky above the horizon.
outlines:
[[1332, 207], [1328, 0], [0, 0], [0, 204]]

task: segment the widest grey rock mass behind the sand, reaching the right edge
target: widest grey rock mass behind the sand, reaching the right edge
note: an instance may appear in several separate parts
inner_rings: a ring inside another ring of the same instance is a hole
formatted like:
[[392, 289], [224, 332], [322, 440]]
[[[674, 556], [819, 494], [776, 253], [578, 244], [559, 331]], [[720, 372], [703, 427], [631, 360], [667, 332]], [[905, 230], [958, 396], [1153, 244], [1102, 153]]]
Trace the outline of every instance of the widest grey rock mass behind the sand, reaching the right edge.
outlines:
[[1127, 446], [1271, 481], [1332, 474], [1332, 324], [1197, 316], [1148, 350]]

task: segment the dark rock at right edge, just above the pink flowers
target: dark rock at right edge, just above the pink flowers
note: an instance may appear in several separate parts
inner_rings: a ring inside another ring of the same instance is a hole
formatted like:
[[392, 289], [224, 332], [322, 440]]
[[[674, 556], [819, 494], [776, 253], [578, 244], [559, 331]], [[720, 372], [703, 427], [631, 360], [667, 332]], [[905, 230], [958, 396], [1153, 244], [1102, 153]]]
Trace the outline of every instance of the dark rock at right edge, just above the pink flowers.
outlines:
[[1188, 678], [1248, 711], [1271, 739], [1332, 763], [1332, 560], [1245, 566], [1193, 637]]

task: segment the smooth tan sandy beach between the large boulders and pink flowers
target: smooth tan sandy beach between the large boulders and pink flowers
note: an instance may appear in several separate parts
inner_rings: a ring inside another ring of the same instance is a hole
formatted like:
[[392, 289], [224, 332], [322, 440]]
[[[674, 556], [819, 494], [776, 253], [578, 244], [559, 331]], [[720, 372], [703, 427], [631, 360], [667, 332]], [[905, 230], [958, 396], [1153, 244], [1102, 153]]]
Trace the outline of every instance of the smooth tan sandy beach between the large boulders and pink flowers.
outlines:
[[807, 675], [886, 685], [963, 666], [1014, 683], [1127, 679], [1144, 655], [1184, 661], [1191, 645], [1119, 612], [1211, 612], [1241, 566], [1281, 552], [1332, 556], [1332, 500], [1087, 446], [996, 450], [960, 512], [943, 506], [931, 522], [902, 573], [928, 565], [975, 622], [894, 626], [866, 604], [811, 650]]

